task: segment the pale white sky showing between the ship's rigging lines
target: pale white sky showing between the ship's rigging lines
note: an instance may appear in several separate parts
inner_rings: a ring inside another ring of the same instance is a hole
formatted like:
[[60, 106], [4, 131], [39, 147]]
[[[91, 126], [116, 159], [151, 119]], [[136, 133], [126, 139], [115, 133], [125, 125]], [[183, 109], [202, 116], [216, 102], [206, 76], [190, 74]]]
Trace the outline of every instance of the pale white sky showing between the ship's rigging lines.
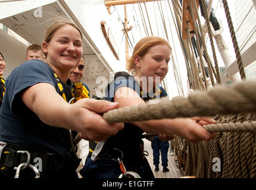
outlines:
[[[170, 5], [172, 6], [171, 1], [169, 1], [169, 2], [170, 2]], [[234, 15], [235, 11], [233, 8], [233, 0], [228, 0], [227, 2], [229, 4], [233, 24], [235, 24], [235, 15]], [[186, 71], [186, 66], [185, 66], [185, 59], [183, 58], [182, 49], [180, 46], [179, 39], [177, 37], [176, 29], [174, 27], [173, 17], [171, 15], [168, 1], [165, 0], [165, 1], [158, 1], [158, 2], [157, 1], [146, 2], [146, 9], [145, 9], [145, 5], [143, 4], [143, 1], [141, 1], [141, 4], [129, 4], [129, 5], [126, 5], [126, 8], [127, 8], [127, 17], [128, 17], [128, 21], [129, 21], [128, 27], [132, 26], [132, 30], [130, 30], [128, 32], [129, 42], [130, 42], [129, 56], [132, 55], [133, 47], [136, 45], [136, 43], [142, 37], [151, 35], [148, 17], [149, 17], [149, 21], [151, 24], [151, 29], [152, 29], [153, 35], [160, 36], [160, 37], [163, 37], [164, 39], [167, 39], [166, 33], [164, 32], [164, 26], [162, 24], [163, 20], [165, 21], [168, 40], [170, 42], [171, 47], [173, 47], [174, 62], [180, 71], [180, 78], [182, 80], [182, 85], [183, 85], [184, 93], [186, 96], [186, 94], [187, 94], [187, 90], [186, 90], [187, 89], [187, 74], [186, 74], [187, 71]], [[232, 51], [231, 53], [234, 53], [233, 55], [235, 55], [235, 52], [233, 50], [233, 44], [232, 44], [230, 33], [229, 33], [229, 28], [227, 26], [226, 15], [224, 12], [222, 1], [214, 0], [212, 8], [214, 9], [214, 13], [216, 14], [216, 17], [223, 21], [224, 32], [221, 34], [221, 36], [223, 36], [223, 39], [225, 40], [226, 44], [229, 46], [230, 50]], [[159, 11], [158, 11], [159, 9], [161, 9], [161, 10], [163, 9], [163, 12], [164, 12], [163, 15], [161, 15], [159, 13]], [[146, 10], [148, 11], [148, 15], [146, 14]], [[142, 14], [142, 12], [143, 12], [143, 14]], [[113, 18], [114, 17], [119, 18], [119, 22], [118, 22], [119, 26], [117, 24], [116, 27], [120, 27], [120, 29], [123, 29], [123, 25], [121, 24], [120, 21], [124, 22], [124, 5], [117, 5], [115, 7], [111, 7], [111, 13], [113, 14]], [[174, 12], [173, 12], [173, 14], [174, 14]], [[199, 12], [199, 15], [201, 15], [201, 12]], [[146, 20], [145, 23], [142, 22], [143, 17]], [[201, 24], [204, 24], [203, 17], [201, 18]], [[145, 32], [145, 25], [148, 26], [147, 27], [148, 34]], [[123, 34], [123, 32], [118, 32], [115, 35], [115, 37], [116, 37], [117, 42], [121, 43], [120, 58], [121, 58], [121, 61], [123, 60], [122, 62], [125, 63], [124, 34]], [[208, 37], [206, 37], [206, 39], [207, 39], [207, 47], [211, 47], [210, 42], [209, 42], [210, 40], [208, 39]], [[215, 49], [216, 49], [216, 53], [217, 53], [218, 65], [224, 66], [223, 61], [220, 57], [220, 54], [218, 53], [216, 44], [215, 44]], [[210, 56], [212, 55], [211, 48], [210, 49], [208, 48], [208, 53]], [[121, 67], [120, 69], [122, 70], [123, 67]], [[170, 98], [174, 97], [174, 96], [182, 95], [182, 94], [179, 94], [179, 92], [177, 91], [177, 85], [176, 85], [176, 81], [175, 81], [174, 74], [173, 74], [173, 68], [172, 68], [171, 64], [169, 64], [169, 71], [168, 71], [168, 74], [166, 77], [166, 81], [167, 81], [167, 83], [166, 83], [167, 90], [168, 90], [168, 94], [169, 94]]]

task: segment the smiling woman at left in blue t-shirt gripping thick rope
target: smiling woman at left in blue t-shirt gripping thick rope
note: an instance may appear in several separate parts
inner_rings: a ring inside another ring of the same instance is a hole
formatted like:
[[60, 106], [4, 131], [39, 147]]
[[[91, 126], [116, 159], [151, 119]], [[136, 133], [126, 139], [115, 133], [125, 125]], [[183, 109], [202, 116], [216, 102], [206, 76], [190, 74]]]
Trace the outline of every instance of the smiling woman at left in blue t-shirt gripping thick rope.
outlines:
[[70, 132], [102, 141], [123, 129], [123, 123], [108, 124], [99, 114], [118, 103], [88, 98], [68, 103], [73, 98], [68, 77], [82, 59], [82, 44], [79, 27], [58, 17], [45, 31], [46, 62], [26, 61], [8, 76], [0, 110], [0, 141], [5, 143], [0, 178], [77, 178], [80, 159]]

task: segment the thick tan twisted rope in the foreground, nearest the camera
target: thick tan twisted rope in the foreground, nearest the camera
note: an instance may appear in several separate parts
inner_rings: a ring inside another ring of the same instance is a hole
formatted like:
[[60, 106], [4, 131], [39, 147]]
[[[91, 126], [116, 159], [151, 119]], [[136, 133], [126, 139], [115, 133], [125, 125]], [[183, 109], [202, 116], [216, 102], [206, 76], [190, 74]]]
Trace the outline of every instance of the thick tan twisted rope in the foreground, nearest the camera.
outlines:
[[209, 91], [194, 91], [188, 98], [176, 96], [162, 98], [158, 104], [141, 104], [122, 107], [104, 113], [110, 123], [146, 121], [150, 119], [211, 116], [256, 111], [256, 83], [244, 81], [232, 88], [216, 85]]

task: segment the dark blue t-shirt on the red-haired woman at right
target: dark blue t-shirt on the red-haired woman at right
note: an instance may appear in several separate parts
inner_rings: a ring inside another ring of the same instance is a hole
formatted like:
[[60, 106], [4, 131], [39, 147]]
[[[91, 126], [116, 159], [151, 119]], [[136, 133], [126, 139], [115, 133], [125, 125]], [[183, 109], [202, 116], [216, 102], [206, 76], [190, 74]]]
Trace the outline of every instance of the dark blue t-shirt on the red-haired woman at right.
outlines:
[[[153, 98], [155, 94], [152, 91], [142, 94], [139, 83], [132, 76], [117, 77], [115, 81], [112, 81], [108, 85], [105, 100], [114, 102], [115, 90], [120, 87], [132, 88], [143, 100]], [[167, 96], [166, 90], [164, 90], [163, 87], [158, 85], [158, 88], [161, 90], [161, 94], [155, 98]], [[124, 124], [124, 129], [119, 131], [117, 135], [108, 138], [105, 144], [123, 151], [124, 163], [141, 164], [142, 156], [140, 144], [143, 132], [144, 131], [138, 126], [127, 123]]]

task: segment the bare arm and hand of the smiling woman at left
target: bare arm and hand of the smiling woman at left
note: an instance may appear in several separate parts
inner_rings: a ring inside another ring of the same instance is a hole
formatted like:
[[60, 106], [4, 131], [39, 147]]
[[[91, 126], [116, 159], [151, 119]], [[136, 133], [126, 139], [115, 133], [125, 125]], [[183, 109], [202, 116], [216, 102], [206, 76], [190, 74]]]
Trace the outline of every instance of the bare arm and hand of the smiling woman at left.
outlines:
[[86, 140], [106, 140], [123, 129], [123, 124], [110, 125], [98, 114], [118, 108], [118, 103], [81, 99], [68, 105], [48, 83], [38, 83], [26, 88], [20, 97], [45, 124], [81, 132]]

